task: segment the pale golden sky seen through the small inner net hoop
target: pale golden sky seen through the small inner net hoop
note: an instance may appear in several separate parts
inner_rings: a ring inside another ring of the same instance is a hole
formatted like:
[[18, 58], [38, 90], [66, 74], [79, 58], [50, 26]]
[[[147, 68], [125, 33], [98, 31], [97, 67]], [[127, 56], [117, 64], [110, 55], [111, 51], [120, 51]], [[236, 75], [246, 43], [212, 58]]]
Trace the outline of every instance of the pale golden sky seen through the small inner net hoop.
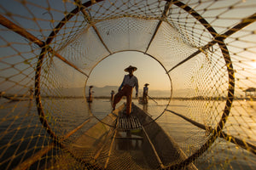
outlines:
[[139, 82], [139, 88], [149, 83], [149, 89], [169, 90], [170, 80], [164, 68], [152, 57], [138, 52], [121, 52], [110, 55], [96, 65], [91, 72], [88, 85], [119, 86], [123, 81], [126, 67], [133, 65], [137, 67], [134, 75]]

